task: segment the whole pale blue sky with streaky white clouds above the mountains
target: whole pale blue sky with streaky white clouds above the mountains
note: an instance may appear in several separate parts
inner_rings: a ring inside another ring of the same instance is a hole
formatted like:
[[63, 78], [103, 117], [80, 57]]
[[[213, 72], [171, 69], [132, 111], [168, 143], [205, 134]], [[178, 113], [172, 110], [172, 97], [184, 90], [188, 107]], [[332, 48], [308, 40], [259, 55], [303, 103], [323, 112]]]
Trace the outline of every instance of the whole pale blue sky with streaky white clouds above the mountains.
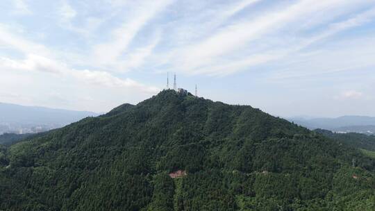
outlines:
[[0, 101], [107, 112], [178, 87], [272, 115], [375, 116], [375, 1], [3, 0]]

